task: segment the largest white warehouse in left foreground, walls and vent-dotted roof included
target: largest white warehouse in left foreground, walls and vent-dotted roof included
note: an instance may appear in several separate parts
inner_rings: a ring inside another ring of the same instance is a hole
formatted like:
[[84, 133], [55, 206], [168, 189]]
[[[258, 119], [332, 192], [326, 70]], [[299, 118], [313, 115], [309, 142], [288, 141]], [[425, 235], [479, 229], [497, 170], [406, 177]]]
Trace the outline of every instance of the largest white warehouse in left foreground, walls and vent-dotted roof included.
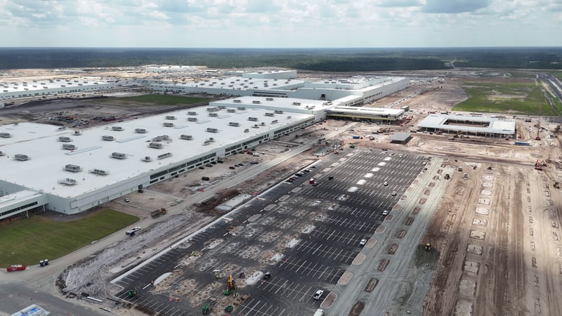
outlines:
[[315, 124], [326, 107], [321, 100], [235, 100], [84, 131], [0, 126], [0, 219], [39, 206], [86, 211]]

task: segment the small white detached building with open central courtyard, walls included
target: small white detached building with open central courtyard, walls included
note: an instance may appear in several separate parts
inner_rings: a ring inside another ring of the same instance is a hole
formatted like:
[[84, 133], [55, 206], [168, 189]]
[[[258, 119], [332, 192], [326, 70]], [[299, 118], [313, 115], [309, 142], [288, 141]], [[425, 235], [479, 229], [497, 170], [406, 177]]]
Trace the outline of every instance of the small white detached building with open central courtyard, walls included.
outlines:
[[417, 124], [419, 131], [443, 132], [485, 137], [516, 137], [515, 121], [494, 117], [429, 114]]

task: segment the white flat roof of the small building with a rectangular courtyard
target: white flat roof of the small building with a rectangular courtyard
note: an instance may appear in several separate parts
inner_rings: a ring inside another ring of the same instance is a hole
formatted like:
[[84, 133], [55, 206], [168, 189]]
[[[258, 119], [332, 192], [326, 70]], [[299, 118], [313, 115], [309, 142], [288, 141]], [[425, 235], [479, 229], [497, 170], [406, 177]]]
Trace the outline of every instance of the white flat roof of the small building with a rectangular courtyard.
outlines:
[[[455, 125], [450, 121], [478, 122], [483, 126]], [[485, 126], [488, 125], [488, 126]], [[515, 121], [513, 119], [497, 119], [493, 117], [469, 117], [464, 115], [429, 114], [421, 120], [417, 127], [426, 129], [449, 129], [455, 131], [466, 131], [471, 133], [515, 133]]]

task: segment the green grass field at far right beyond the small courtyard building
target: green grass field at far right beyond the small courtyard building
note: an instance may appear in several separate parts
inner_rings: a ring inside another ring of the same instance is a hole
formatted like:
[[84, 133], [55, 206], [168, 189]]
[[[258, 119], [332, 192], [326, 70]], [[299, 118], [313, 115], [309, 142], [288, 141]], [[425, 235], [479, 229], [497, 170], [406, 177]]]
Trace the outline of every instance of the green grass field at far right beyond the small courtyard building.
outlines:
[[559, 114], [559, 107], [551, 107], [535, 83], [465, 82], [462, 88], [471, 97], [455, 105], [453, 111], [538, 115], [542, 106], [542, 115]]

